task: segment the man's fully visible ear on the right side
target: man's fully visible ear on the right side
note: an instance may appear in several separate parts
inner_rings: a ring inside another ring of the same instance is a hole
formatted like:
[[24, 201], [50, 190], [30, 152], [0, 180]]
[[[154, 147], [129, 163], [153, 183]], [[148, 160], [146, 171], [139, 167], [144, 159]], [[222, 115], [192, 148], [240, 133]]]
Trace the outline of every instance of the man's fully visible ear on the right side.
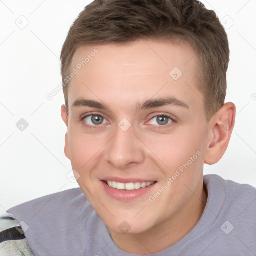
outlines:
[[225, 103], [211, 118], [210, 139], [204, 163], [214, 164], [218, 162], [226, 151], [235, 122], [235, 105], [232, 102]]

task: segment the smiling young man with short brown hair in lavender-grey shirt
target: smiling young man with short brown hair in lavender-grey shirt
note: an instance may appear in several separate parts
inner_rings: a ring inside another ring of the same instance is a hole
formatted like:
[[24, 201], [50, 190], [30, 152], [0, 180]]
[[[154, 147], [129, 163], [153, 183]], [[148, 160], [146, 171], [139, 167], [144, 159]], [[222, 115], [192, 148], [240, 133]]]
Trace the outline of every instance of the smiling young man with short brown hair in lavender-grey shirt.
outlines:
[[215, 13], [196, 0], [94, 1], [61, 61], [65, 155], [80, 188], [9, 209], [2, 251], [255, 255], [256, 189], [203, 176], [235, 120]]

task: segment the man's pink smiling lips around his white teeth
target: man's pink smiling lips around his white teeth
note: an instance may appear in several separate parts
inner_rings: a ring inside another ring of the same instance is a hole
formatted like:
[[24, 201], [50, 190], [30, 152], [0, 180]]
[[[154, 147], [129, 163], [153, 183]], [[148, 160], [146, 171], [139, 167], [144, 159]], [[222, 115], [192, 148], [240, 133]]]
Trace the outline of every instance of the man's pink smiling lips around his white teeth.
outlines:
[[[116, 182], [120, 182], [120, 179], [107, 179], [107, 180], [111, 180], [111, 181], [116, 181]], [[129, 182], [134, 182], [131, 181], [131, 179], [129, 179], [129, 181], [125, 181], [125, 182], [121, 182], [121, 183], [129, 183]], [[138, 179], [136, 179], [135, 182], [150, 182], [150, 181], [138, 181]], [[139, 189], [134, 189], [134, 190], [122, 190], [122, 189], [117, 189], [117, 188], [113, 188], [109, 185], [107, 185], [105, 183], [104, 180], [100, 180], [101, 185], [103, 186], [103, 189], [105, 190], [105, 192], [112, 198], [120, 200], [120, 201], [132, 201], [135, 200], [137, 198], [140, 198], [142, 196], [144, 196], [145, 194], [149, 193], [149, 191], [155, 186], [155, 183], [151, 184], [150, 186], [146, 186], [143, 188], [139, 188]]]

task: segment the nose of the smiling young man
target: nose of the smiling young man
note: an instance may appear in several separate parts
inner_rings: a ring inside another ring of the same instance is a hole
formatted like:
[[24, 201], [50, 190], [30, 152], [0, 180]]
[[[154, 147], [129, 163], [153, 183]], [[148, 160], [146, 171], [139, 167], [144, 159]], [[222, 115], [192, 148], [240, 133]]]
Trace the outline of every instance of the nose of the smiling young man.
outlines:
[[126, 131], [116, 127], [116, 133], [105, 152], [106, 160], [116, 169], [142, 163], [145, 158], [143, 143], [133, 133], [132, 126]]

